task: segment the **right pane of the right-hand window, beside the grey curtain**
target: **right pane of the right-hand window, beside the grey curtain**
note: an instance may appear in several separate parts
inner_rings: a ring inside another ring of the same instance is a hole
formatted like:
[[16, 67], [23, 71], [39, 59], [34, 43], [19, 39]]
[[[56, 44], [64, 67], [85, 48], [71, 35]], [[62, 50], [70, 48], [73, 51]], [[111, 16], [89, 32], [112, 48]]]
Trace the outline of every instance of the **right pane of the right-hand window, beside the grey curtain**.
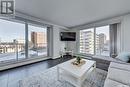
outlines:
[[110, 55], [109, 25], [96, 28], [96, 55]]

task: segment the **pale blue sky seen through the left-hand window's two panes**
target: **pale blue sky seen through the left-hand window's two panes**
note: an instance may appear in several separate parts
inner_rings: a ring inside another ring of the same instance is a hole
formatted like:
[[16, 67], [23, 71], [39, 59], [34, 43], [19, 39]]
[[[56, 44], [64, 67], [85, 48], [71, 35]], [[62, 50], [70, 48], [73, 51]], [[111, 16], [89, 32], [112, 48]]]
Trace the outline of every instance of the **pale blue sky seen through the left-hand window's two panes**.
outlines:
[[[46, 29], [29, 25], [29, 37], [32, 31], [46, 32]], [[25, 25], [0, 19], [0, 41], [12, 42], [13, 39], [25, 39]]]

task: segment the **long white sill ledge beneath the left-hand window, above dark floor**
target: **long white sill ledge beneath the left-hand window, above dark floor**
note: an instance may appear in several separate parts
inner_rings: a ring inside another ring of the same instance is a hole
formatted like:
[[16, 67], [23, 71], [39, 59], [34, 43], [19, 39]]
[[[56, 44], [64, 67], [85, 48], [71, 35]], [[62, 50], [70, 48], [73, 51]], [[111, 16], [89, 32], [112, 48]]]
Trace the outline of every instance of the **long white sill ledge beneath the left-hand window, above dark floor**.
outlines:
[[10, 63], [9, 62], [2, 63], [0, 64], [0, 71], [35, 63], [35, 62], [40, 62], [40, 61], [47, 60], [50, 58], [51, 57], [27, 58], [27, 59], [18, 60], [18, 61], [11, 61]]

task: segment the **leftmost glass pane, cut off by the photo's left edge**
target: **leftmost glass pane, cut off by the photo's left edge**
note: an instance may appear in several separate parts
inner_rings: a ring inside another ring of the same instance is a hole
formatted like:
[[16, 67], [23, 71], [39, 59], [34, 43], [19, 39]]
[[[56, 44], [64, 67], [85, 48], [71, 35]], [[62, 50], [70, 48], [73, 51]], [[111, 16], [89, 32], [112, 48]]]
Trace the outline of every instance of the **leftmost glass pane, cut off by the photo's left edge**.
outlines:
[[25, 58], [25, 25], [0, 19], [0, 62]]

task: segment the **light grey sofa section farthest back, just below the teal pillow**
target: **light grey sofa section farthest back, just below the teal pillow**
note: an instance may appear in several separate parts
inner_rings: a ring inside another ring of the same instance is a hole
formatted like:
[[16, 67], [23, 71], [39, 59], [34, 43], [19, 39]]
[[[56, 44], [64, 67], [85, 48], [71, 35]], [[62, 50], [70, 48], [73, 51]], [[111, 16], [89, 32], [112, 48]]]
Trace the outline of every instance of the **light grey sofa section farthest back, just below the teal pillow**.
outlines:
[[130, 64], [128, 63], [115, 63], [111, 62], [109, 68], [117, 68], [117, 69], [122, 69], [122, 70], [127, 70], [130, 71]]

